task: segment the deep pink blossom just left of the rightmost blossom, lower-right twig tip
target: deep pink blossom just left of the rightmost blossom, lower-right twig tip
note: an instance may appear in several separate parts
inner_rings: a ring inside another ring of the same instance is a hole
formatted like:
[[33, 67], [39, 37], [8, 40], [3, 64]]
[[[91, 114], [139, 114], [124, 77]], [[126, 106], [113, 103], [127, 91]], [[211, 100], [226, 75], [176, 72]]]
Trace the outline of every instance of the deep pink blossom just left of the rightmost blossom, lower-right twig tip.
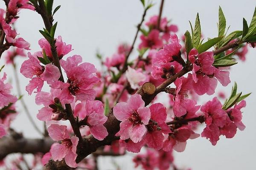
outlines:
[[206, 124], [201, 136], [209, 138], [212, 145], [215, 145], [219, 140], [219, 129], [227, 123], [227, 113], [222, 109], [221, 102], [217, 97], [201, 106], [201, 111], [204, 113]]

